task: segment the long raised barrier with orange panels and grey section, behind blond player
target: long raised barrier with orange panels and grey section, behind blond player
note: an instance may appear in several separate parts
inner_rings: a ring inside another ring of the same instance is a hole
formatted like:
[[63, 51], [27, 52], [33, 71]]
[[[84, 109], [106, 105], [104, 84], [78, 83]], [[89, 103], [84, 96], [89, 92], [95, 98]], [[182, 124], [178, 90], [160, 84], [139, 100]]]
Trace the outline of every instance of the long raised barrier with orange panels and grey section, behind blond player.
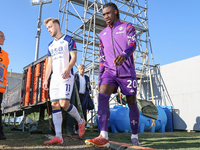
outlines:
[[14, 118], [25, 117], [32, 112], [40, 112], [40, 118], [44, 118], [46, 102], [49, 101], [48, 91], [42, 88], [47, 61], [45, 55], [24, 67], [21, 83], [3, 95], [4, 120], [6, 115], [8, 118], [12, 115]]

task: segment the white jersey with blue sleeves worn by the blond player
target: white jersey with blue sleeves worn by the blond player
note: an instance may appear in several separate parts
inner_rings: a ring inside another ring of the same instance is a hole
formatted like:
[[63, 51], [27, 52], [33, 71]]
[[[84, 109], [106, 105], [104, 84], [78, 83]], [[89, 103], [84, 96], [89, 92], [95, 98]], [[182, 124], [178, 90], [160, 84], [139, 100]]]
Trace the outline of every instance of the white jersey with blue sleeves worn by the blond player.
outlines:
[[[60, 39], [54, 39], [49, 43], [48, 56], [52, 57], [53, 76], [61, 77], [71, 60], [70, 52], [77, 52], [77, 48], [75, 41], [69, 35], [63, 35]], [[70, 74], [73, 75], [73, 68]]]

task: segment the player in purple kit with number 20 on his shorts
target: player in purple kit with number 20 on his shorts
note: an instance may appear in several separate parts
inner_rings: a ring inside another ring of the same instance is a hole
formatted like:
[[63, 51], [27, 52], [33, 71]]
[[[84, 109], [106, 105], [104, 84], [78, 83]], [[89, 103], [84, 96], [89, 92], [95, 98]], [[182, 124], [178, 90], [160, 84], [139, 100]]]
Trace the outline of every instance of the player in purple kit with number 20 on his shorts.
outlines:
[[98, 121], [100, 135], [86, 139], [89, 146], [108, 148], [109, 99], [118, 87], [126, 95], [132, 129], [131, 141], [139, 146], [139, 110], [136, 102], [137, 78], [133, 52], [136, 49], [136, 32], [131, 23], [121, 22], [117, 6], [110, 2], [103, 6], [103, 18], [107, 27], [99, 34], [99, 98]]

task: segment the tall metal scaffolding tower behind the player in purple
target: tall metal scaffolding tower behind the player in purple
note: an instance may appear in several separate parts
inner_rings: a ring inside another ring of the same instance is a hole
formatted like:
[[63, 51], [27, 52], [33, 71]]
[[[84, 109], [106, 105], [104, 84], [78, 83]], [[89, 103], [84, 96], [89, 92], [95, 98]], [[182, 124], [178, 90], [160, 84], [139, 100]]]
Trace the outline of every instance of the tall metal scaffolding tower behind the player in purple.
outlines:
[[[118, 6], [121, 21], [130, 22], [135, 27], [137, 47], [133, 56], [136, 75], [139, 79], [138, 84], [146, 82], [151, 85], [150, 71], [157, 65], [154, 64], [150, 41], [147, 0], [60, 0], [58, 18], [61, 29], [64, 29], [65, 34], [72, 36], [76, 43], [81, 45], [81, 49], [78, 46], [78, 52], [82, 53], [81, 63], [86, 66], [85, 73], [90, 77], [92, 90], [96, 90], [98, 85], [96, 83], [99, 70], [98, 35], [107, 26], [102, 16], [102, 8], [108, 2], [113, 2]], [[139, 89], [138, 98], [150, 100], [149, 87], [152, 88], [147, 85], [145, 98]], [[95, 97], [95, 92], [92, 93], [92, 97]]]

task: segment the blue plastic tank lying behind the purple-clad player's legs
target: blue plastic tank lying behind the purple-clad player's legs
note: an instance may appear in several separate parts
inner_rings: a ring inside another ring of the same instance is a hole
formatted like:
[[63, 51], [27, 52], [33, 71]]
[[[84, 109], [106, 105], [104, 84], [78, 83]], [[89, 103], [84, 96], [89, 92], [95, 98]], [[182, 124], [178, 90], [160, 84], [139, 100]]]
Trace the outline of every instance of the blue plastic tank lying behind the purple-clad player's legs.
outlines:
[[[139, 118], [139, 128], [138, 132], [143, 133], [144, 131], [149, 132], [165, 132], [165, 127], [167, 124], [167, 115], [165, 111], [160, 107], [156, 106], [158, 109], [157, 119], [152, 119], [144, 116], [140, 112]], [[100, 129], [98, 124], [98, 117], [96, 117], [98, 130]], [[129, 108], [126, 105], [123, 106], [114, 106], [110, 109], [110, 119], [108, 124], [109, 132], [118, 133], [118, 132], [131, 132], [130, 119], [129, 119]]]

